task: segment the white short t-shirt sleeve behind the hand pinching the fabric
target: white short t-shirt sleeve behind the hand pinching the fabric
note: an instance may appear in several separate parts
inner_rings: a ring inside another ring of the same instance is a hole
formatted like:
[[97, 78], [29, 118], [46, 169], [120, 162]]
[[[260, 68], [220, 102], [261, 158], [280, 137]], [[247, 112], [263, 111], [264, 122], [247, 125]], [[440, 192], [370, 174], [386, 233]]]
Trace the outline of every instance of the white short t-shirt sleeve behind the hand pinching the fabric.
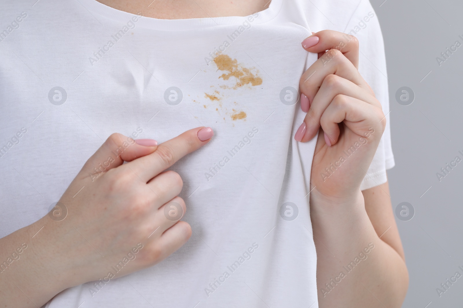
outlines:
[[378, 186], [388, 179], [386, 170], [394, 167], [389, 121], [388, 73], [382, 32], [369, 0], [361, 0], [345, 27], [344, 33], [356, 36], [360, 43], [358, 70], [363, 79], [375, 91], [375, 96], [386, 115], [386, 129], [376, 150], [375, 157], [362, 181], [361, 190]]

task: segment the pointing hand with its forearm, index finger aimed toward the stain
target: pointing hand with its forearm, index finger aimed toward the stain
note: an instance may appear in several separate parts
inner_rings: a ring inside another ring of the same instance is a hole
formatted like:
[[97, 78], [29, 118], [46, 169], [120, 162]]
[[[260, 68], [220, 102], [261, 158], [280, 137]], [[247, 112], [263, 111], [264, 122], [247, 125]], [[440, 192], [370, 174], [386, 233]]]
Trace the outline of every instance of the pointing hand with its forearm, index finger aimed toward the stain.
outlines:
[[[0, 246], [26, 242], [30, 247], [21, 254], [22, 262], [17, 262], [21, 266], [12, 264], [0, 274], [0, 286], [6, 278], [16, 284], [10, 285], [15, 296], [0, 291], [2, 303], [10, 298], [6, 307], [40, 307], [61, 290], [99, 279], [107, 283], [175, 252], [192, 231], [188, 223], [179, 221], [186, 211], [178, 197], [181, 177], [164, 170], [212, 136], [211, 128], [198, 127], [161, 145], [146, 146], [121, 134], [111, 135], [88, 159], [54, 210], [0, 240]], [[0, 257], [9, 253], [1, 249]], [[24, 277], [21, 272], [28, 266], [35, 270]], [[49, 279], [53, 283], [48, 292], [31, 283]], [[28, 304], [28, 298], [32, 303]]]

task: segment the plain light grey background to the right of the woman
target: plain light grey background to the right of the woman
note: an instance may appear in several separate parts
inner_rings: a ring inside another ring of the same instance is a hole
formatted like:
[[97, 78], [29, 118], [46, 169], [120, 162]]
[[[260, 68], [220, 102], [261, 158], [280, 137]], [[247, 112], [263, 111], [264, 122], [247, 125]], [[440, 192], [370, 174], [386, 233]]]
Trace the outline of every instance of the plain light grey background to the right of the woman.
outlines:
[[[388, 171], [393, 209], [409, 202], [413, 219], [399, 226], [410, 285], [404, 308], [462, 307], [463, 277], [441, 296], [436, 288], [463, 271], [463, 162], [439, 182], [436, 175], [463, 159], [463, 46], [438, 65], [437, 57], [463, 44], [461, 0], [370, 0], [379, 18], [388, 64], [395, 167]], [[429, 73], [429, 74], [428, 74]], [[409, 106], [395, 100], [408, 86]], [[429, 190], [428, 190], [429, 189]]]

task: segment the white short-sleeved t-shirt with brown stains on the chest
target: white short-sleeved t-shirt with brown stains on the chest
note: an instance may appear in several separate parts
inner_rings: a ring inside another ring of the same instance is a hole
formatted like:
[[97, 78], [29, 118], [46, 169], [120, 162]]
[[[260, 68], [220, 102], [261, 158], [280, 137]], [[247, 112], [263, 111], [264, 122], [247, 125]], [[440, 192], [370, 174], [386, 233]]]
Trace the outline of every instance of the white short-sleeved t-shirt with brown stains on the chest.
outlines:
[[[113, 132], [159, 142], [198, 126], [215, 132], [172, 168], [184, 181], [188, 243], [45, 307], [318, 307], [308, 196], [316, 140], [293, 138], [305, 116], [295, 89], [317, 55], [300, 42], [311, 31], [357, 32], [360, 72], [388, 114], [369, 1], [272, 0], [249, 17], [182, 20], [96, 0], [33, 2], [4, 1], [0, 12], [1, 237], [46, 215]], [[388, 126], [362, 189], [393, 165]]]

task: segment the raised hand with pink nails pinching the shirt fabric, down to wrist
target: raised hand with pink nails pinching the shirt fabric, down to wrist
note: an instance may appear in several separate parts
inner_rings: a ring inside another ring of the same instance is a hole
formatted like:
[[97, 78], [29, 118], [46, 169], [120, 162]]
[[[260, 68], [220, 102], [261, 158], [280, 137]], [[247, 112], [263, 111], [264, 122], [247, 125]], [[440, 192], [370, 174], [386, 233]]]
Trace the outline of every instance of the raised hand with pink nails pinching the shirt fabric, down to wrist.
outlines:
[[385, 115], [358, 72], [356, 37], [323, 30], [302, 46], [319, 54], [300, 79], [300, 105], [307, 115], [294, 135], [307, 142], [319, 134], [311, 189], [322, 198], [355, 198], [384, 132]]

